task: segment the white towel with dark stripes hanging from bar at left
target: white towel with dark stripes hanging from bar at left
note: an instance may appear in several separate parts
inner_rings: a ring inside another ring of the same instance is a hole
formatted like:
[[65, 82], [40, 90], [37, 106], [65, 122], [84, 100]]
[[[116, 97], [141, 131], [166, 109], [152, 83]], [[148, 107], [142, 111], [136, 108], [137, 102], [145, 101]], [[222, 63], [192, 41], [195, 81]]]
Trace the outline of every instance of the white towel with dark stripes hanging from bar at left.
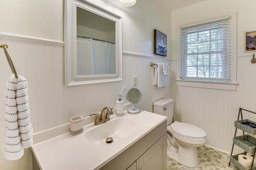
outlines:
[[17, 160], [24, 154], [24, 148], [33, 143], [33, 128], [30, 122], [27, 80], [11, 76], [8, 82], [5, 104], [5, 144], [4, 156]]

